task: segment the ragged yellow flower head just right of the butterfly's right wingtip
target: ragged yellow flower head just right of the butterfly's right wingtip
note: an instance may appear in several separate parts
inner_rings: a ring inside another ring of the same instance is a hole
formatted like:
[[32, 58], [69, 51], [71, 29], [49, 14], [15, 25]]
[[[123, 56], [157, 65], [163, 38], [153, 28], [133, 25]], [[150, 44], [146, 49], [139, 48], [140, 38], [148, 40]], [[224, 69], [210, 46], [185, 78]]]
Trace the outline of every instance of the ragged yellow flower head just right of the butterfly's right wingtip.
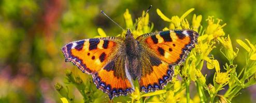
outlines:
[[225, 35], [225, 32], [223, 31], [223, 27], [226, 25], [226, 24], [223, 24], [223, 25], [220, 25], [220, 22], [221, 20], [218, 19], [218, 22], [215, 23], [214, 19], [212, 19], [213, 17], [212, 16], [208, 16], [208, 26], [207, 26], [207, 29], [205, 31], [205, 33], [207, 35], [212, 35], [214, 36], [214, 38], [217, 38], [217, 37], [221, 37], [221, 36], [224, 36]]

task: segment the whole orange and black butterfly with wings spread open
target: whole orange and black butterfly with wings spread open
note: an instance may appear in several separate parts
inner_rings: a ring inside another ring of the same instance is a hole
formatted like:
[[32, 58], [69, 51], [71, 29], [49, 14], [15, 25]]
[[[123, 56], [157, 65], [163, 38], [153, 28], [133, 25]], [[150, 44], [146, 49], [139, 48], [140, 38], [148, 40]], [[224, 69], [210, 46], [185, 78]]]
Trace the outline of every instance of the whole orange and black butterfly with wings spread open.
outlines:
[[125, 38], [84, 39], [63, 46], [66, 62], [72, 62], [92, 75], [99, 90], [109, 98], [134, 92], [137, 79], [140, 91], [161, 90], [172, 80], [174, 66], [184, 62], [197, 43], [193, 30], [166, 30], [133, 37], [127, 29]]

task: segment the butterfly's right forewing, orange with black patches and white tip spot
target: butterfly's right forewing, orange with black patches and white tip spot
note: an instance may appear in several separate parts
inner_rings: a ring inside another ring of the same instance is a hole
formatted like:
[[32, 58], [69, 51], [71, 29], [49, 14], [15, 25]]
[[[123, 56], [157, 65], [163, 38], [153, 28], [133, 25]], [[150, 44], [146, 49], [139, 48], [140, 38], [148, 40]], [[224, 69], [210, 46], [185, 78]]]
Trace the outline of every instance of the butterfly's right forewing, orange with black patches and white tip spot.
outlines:
[[197, 43], [198, 33], [193, 30], [167, 30], [148, 33], [136, 40], [168, 64], [181, 64]]

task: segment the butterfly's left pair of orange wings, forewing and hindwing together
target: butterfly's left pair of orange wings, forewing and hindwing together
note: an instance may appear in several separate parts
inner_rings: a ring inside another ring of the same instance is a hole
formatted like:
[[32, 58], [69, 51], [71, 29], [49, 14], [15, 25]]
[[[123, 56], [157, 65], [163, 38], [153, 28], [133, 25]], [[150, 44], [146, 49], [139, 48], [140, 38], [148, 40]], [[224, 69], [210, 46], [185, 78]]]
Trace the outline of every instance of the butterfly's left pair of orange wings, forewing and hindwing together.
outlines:
[[72, 62], [82, 72], [92, 74], [96, 87], [112, 99], [134, 90], [124, 71], [124, 57], [120, 53], [122, 45], [123, 40], [116, 37], [84, 39], [68, 43], [62, 52], [66, 62]]

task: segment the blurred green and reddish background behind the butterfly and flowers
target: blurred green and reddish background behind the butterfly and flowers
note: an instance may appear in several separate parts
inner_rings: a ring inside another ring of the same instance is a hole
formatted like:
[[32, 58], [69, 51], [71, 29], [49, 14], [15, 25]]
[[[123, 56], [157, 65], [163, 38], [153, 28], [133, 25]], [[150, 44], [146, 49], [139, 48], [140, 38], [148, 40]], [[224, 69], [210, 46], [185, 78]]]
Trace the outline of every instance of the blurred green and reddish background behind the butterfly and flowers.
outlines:
[[[248, 38], [253, 44], [256, 42], [256, 1], [253, 0], [1, 0], [0, 102], [61, 102], [54, 83], [64, 82], [65, 70], [86, 75], [72, 63], [64, 62], [61, 47], [68, 42], [93, 38], [98, 35], [98, 27], [108, 36], [121, 33], [122, 30], [100, 10], [124, 27], [125, 9], [130, 10], [135, 20], [149, 5], [153, 5], [149, 11], [153, 31], [169, 25], [158, 16], [157, 8], [168, 17], [181, 16], [195, 8], [187, 16], [188, 20], [192, 20], [193, 13], [203, 15], [203, 26], [208, 16], [222, 19], [222, 24], [227, 24], [223, 29], [230, 34], [234, 46], [238, 46], [236, 39]], [[236, 58], [238, 66], [245, 63], [245, 50], [240, 49], [239, 55]], [[216, 55], [215, 58], [223, 65], [223, 57]], [[232, 102], [255, 100], [255, 86], [240, 92], [242, 94]], [[75, 96], [81, 98], [80, 94]]]

